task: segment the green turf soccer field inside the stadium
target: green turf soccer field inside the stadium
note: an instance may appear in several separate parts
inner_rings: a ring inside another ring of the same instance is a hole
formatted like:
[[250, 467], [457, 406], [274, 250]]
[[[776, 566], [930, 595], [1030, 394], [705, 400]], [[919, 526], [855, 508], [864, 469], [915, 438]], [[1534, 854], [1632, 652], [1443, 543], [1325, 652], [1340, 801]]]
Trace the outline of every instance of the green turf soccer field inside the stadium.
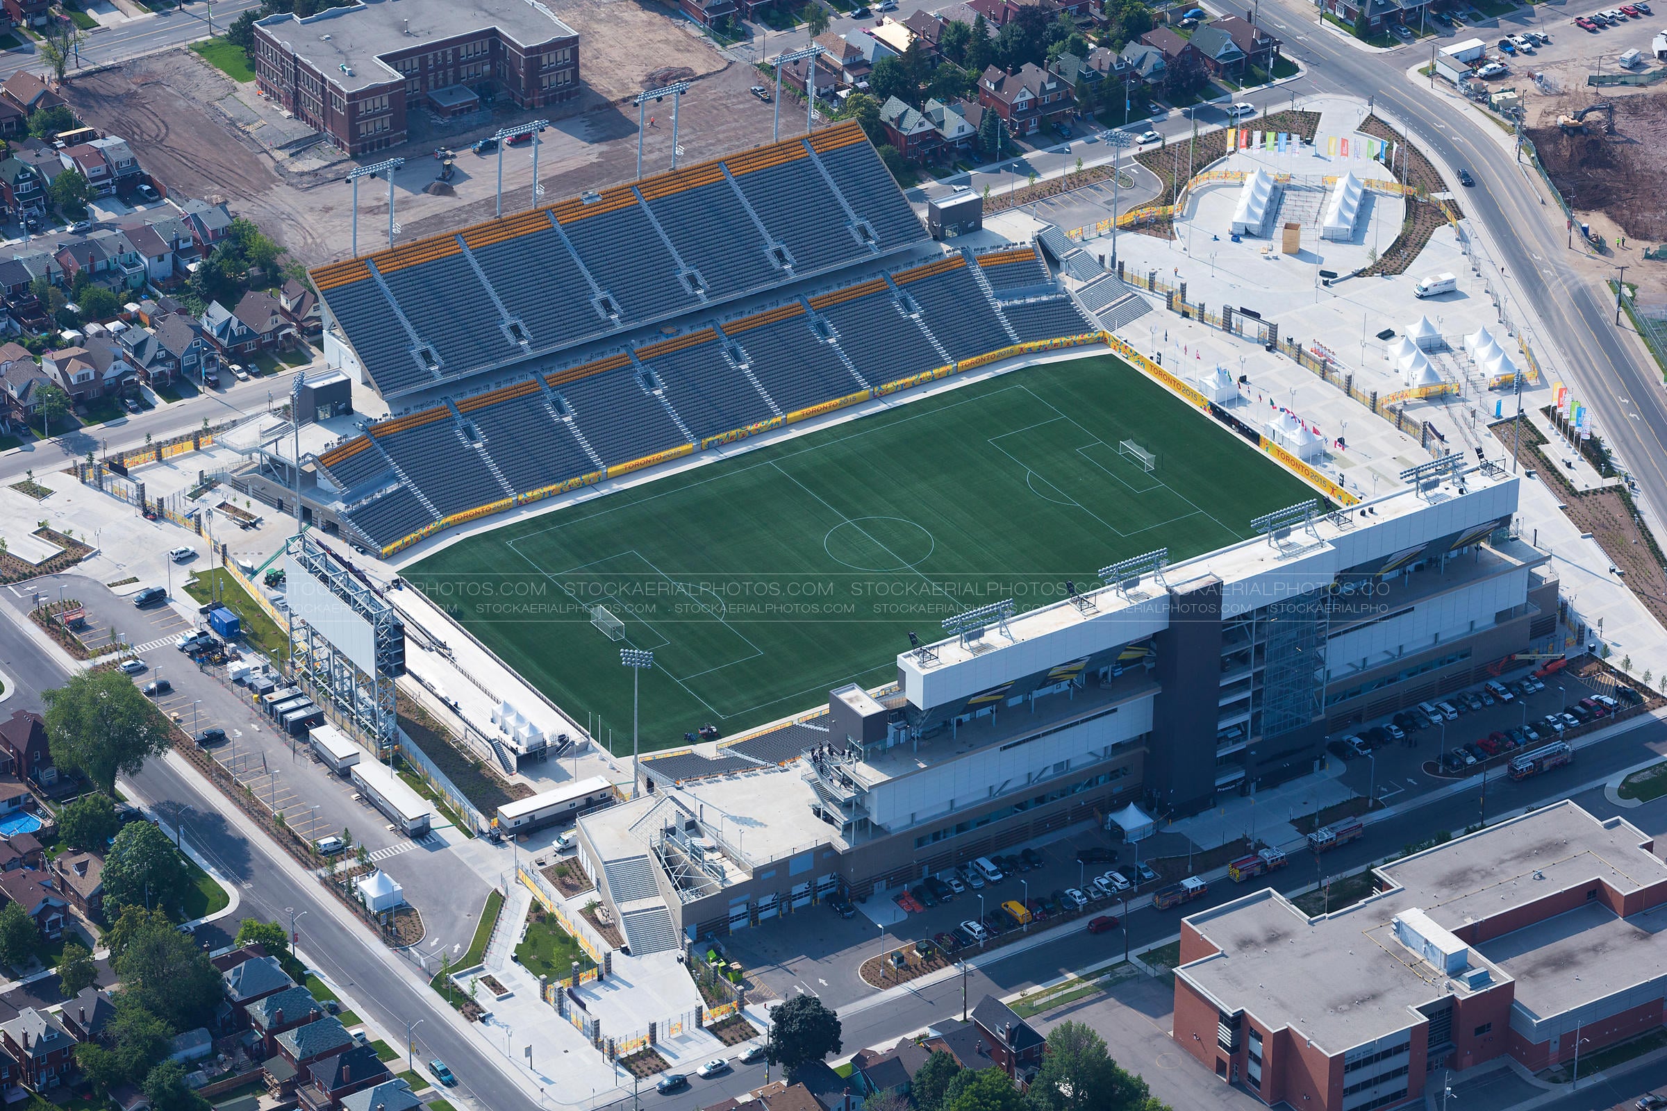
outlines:
[[[1119, 451], [1157, 451], [1147, 471]], [[725, 735], [895, 678], [907, 633], [960, 610], [1055, 601], [1120, 558], [1172, 560], [1314, 496], [1110, 355], [1029, 368], [472, 536], [410, 566], [580, 723], [630, 751]], [[623, 625], [592, 623], [603, 605]]]

